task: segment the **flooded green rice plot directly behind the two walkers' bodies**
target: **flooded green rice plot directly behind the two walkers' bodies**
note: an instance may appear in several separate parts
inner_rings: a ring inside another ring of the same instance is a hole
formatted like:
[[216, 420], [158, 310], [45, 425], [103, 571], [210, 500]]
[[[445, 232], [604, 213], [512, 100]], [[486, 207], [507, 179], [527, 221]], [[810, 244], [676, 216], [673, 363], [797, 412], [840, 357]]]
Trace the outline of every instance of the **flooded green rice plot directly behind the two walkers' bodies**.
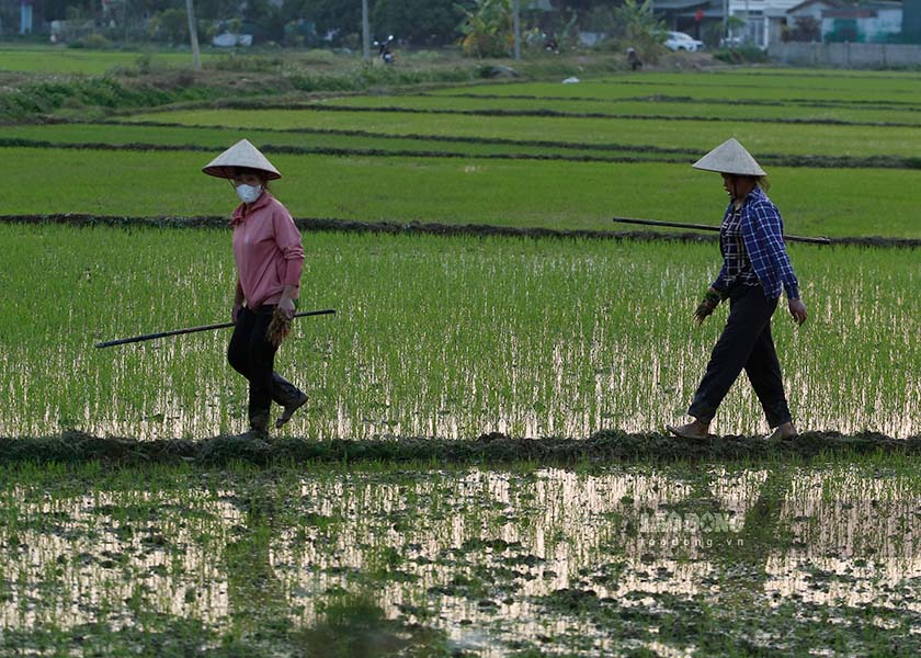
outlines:
[[[0, 225], [0, 436], [202, 439], [246, 429], [229, 332], [98, 350], [226, 321], [219, 229]], [[302, 309], [276, 365], [310, 401], [288, 436], [587, 438], [681, 418], [726, 310], [701, 327], [714, 245], [305, 235]], [[810, 318], [774, 319], [800, 430], [921, 433], [917, 249], [791, 247]], [[54, 272], [36, 277], [34, 272]], [[35, 305], [34, 299], [48, 303]], [[742, 378], [712, 431], [765, 433]]]

